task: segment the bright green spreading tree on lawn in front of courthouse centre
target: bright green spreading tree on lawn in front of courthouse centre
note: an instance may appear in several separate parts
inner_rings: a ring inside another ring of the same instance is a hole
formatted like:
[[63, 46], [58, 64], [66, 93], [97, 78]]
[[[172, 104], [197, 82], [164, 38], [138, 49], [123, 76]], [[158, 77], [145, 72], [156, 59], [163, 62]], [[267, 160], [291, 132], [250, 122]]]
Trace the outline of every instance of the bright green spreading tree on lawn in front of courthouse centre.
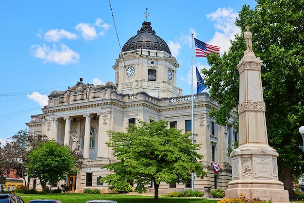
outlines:
[[138, 125], [130, 124], [127, 132], [108, 131], [114, 155], [119, 162], [107, 164], [101, 168], [114, 171], [101, 179], [114, 189], [128, 185], [128, 180], [135, 180], [135, 191], [145, 192], [152, 181], [158, 199], [160, 182], [186, 183], [190, 172], [203, 178], [206, 173], [197, 160], [202, 156], [197, 153], [199, 144], [192, 144], [190, 134], [170, 128], [168, 122], [159, 120], [150, 123], [138, 120]]

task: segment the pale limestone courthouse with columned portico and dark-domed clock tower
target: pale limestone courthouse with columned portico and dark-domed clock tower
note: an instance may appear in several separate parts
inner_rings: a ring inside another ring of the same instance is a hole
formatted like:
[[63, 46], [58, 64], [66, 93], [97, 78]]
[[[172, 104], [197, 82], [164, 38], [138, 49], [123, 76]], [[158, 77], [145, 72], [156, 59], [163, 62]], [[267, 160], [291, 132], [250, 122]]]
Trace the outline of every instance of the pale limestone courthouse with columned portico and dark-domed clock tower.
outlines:
[[[176, 86], [179, 64], [171, 55], [167, 43], [156, 36], [150, 22], [144, 22], [137, 35], [131, 37], [123, 46], [113, 69], [115, 82], [105, 85], [87, 84], [75, 81], [75, 86], [66, 91], [53, 91], [49, 103], [39, 115], [33, 115], [29, 132], [43, 133], [61, 144], [73, 146], [84, 156], [84, 166], [79, 172], [52, 187], [67, 184], [70, 192], [81, 193], [85, 188], [99, 189], [101, 193], [110, 193], [108, 185], [100, 184], [101, 177], [111, 173], [101, 166], [113, 163], [116, 157], [105, 143], [109, 140], [107, 131], [126, 131], [129, 123], [136, 119], [142, 121], [166, 120], [169, 127], [191, 132], [191, 103], [193, 99], [193, 132], [196, 143], [202, 144], [199, 153], [208, 177], [195, 178], [194, 187], [202, 190], [204, 186], [226, 189], [232, 180], [232, 171], [227, 157], [227, 148], [237, 139], [232, 122], [235, 114], [226, 126], [215, 123], [209, 117], [211, 109], [218, 109], [216, 101], [208, 93], [183, 95]], [[75, 136], [76, 135], [76, 136]], [[74, 144], [74, 146], [75, 146]], [[211, 161], [220, 165], [216, 174]], [[133, 181], [130, 184], [134, 187]], [[38, 180], [31, 179], [31, 187], [39, 189]], [[159, 193], [191, 188], [190, 171], [187, 184], [165, 184], [159, 187]], [[149, 187], [153, 192], [153, 186]]]

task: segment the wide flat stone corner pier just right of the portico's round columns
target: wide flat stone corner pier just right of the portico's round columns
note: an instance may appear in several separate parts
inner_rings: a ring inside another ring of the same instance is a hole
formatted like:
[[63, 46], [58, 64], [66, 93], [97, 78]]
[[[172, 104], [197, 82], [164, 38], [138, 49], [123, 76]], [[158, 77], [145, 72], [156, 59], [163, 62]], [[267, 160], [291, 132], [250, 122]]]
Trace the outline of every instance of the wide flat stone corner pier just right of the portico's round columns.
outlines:
[[108, 113], [109, 112], [97, 113], [99, 116], [97, 159], [109, 158], [109, 150], [105, 144], [106, 142], [109, 142], [109, 136], [106, 133], [106, 131], [109, 130]]

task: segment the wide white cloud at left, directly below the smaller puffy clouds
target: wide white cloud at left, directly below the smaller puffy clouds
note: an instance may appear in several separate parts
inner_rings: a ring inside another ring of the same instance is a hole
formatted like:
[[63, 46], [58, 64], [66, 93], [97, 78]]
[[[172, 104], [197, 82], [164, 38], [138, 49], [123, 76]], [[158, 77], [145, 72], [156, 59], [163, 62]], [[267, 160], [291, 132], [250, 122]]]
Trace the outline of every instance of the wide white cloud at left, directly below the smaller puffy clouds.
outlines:
[[59, 49], [53, 44], [53, 47], [48, 47], [45, 44], [32, 45], [30, 52], [34, 57], [43, 59], [43, 63], [57, 63], [59, 65], [67, 65], [71, 63], [78, 63], [80, 55], [73, 50], [69, 49], [68, 46], [61, 43]]

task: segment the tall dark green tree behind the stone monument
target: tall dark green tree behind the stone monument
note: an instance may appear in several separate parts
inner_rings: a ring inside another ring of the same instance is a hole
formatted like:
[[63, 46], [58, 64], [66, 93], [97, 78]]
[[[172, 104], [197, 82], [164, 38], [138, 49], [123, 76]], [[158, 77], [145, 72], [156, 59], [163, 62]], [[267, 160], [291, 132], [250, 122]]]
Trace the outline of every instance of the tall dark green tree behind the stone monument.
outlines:
[[[250, 26], [253, 52], [263, 60], [261, 70], [269, 144], [278, 153], [280, 180], [292, 191], [292, 180], [304, 172], [304, 0], [257, 0], [255, 9], [244, 5], [236, 19], [242, 32]], [[246, 45], [236, 35], [228, 53], [208, 55], [212, 67], [203, 69], [210, 95], [219, 101], [216, 122], [226, 124], [228, 112], [238, 105], [238, 61]]]

